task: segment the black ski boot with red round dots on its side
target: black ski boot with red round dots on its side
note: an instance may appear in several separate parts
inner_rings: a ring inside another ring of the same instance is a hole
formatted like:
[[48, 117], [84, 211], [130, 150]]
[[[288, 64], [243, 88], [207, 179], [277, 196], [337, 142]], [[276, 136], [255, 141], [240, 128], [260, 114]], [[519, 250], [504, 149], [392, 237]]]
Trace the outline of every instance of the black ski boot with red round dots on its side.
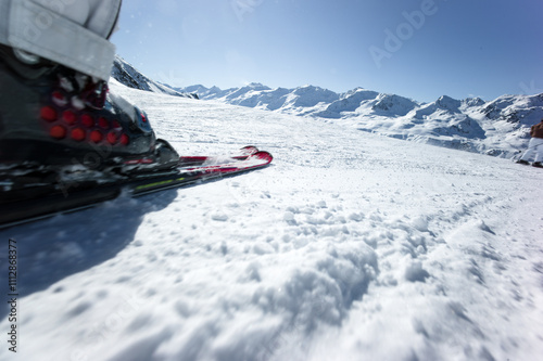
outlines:
[[105, 81], [0, 46], [0, 176], [77, 169], [129, 177], [178, 159], [146, 113], [109, 93]]

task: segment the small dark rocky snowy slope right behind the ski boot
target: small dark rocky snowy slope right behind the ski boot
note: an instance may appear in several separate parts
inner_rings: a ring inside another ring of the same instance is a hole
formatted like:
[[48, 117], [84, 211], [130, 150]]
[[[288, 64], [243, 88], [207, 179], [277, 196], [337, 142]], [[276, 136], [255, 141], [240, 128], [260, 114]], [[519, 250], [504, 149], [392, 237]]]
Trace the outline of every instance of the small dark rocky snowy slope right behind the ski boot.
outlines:
[[113, 63], [111, 76], [118, 82], [128, 88], [152, 91], [160, 94], [168, 94], [175, 96], [195, 98], [194, 94], [180, 92], [172, 89], [168, 86], [154, 81], [136, 69], [132, 65], [126, 62], [123, 57], [116, 55]]

